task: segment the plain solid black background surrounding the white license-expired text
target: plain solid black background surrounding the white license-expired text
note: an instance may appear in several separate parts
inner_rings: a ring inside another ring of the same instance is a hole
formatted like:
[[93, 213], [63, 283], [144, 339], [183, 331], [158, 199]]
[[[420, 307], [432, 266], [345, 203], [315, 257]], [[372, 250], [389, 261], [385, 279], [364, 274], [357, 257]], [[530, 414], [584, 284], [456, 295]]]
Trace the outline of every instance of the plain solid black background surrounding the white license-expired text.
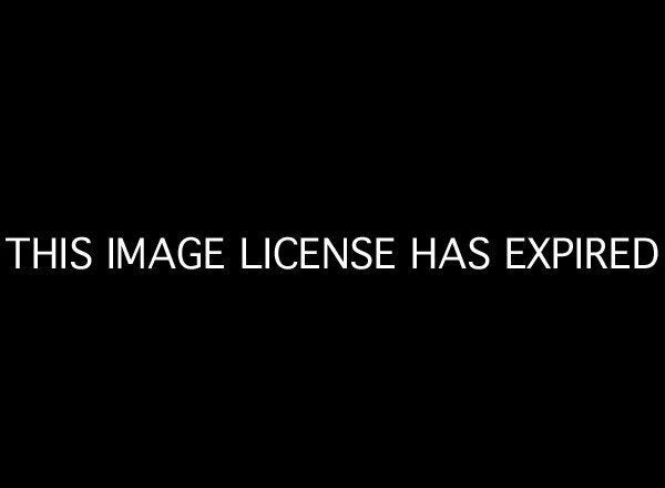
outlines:
[[[510, 273], [502, 243], [662, 248], [657, 32], [274, 13], [33, 12], [3, 61], [2, 236], [393, 235], [400, 270], [72, 275], [3, 255], [12, 458], [635, 476], [659, 431], [662, 263]], [[408, 270], [411, 236], [475, 235], [488, 272]]]

